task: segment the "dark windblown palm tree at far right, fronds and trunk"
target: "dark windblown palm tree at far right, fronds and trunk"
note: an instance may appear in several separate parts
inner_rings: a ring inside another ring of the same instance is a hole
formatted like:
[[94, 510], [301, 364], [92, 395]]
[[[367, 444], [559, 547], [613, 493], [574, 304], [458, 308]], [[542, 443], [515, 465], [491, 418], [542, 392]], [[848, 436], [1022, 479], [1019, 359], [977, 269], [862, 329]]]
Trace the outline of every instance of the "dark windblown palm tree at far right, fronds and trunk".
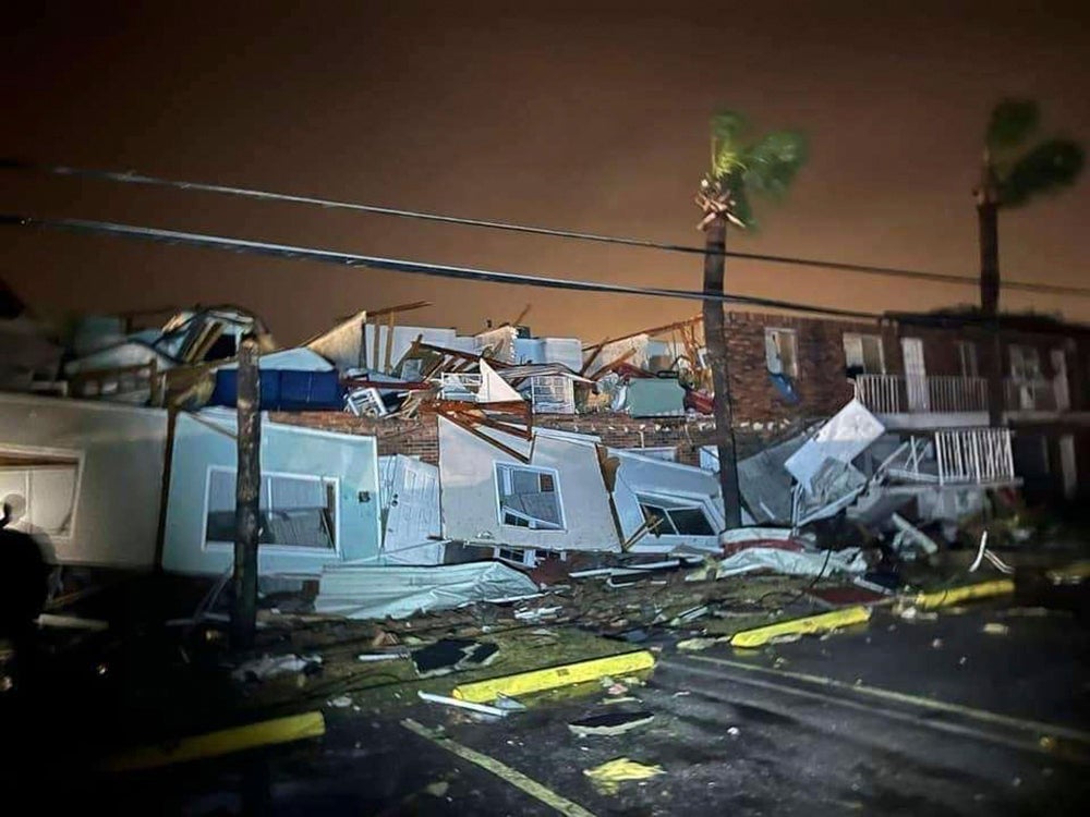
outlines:
[[980, 310], [991, 320], [992, 354], [988, 371], [989, 420], [1003, 422], [1003, 362], [1000, 355], [1001, 209], [1021, 207], [1041, 193], [1069, 186], [1085, 161], [1082, 147], [1069, 139], [1051, 138], [1029, 150], [1027, 141], [1037, 131], [1040, 112], [1028, 99], [1005, 99], [992, 110], [984, 136], [980, 184], [973, 191], [980, 241]]

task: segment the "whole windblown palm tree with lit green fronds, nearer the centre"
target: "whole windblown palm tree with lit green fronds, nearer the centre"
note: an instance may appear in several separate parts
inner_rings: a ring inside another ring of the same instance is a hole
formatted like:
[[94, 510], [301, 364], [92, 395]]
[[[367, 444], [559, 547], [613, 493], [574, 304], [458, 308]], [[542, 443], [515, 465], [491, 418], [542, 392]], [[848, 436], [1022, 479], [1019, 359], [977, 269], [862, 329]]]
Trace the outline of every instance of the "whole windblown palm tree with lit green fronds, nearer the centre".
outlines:
[[[775, 131], [756, 142], [744, 142], [744, 119], [732, 111], [712, 118], [712, 167], [700, 183], [697, 204], [704, 218], [704, 292], [724, 295], [727, 222], [741, 230], [755, 227], [749, 194], [783, 196], [806, 161], [806, 139], [792, 131]], [[704, 345], [712, 369], [715, 392], [716, 447], [719, 485], [728, 528], [741, 526], [741, 496], [735, 459], [734, 425], [730, 416], [727, 344], [724, 336], [723, 302], [704, 301]]]

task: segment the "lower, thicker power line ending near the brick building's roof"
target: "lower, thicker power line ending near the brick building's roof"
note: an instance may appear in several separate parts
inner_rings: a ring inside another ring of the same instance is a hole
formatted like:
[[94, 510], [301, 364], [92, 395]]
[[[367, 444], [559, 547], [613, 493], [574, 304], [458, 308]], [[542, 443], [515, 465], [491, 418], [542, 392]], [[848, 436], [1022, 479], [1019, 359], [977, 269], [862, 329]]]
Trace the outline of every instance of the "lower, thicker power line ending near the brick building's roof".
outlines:
[[632, 286], [629, 284], [602, 283], [597, 281], [577, 281], [566, 278], [546, 276], [530, 276], [520, 272], [502, 272], [475, 267], [457, 267], [446, 264], [428, 264], [400, 258], [383, 258], [356, 253], [342, 253], [319, 247], [305, 247], [292, 244], [272, 244], [263, 241], [233, 239], [225, 235], [208, 235], [206, 233], [189, 233], [175, 230], [161, 230], [136, 224], [117, 224], [108, 221], [88, 221], [84, 219], [39, 219], [29, 216], [0, 215], [0, 224], [37, 227], [49, 230], [65, 230], [77, 233], [97, 235], [120, 235], [129, 239], [141, 239], [166, 244], [182, 244], [186, 246], [228, 249], [234, 253], [264, 255], [275, 258], [291, 258], [298, 260], [335, 264], [342, 267], [367, 267], [370, 269], [409, 272], [438, 278], [455, 278], [470, 281], [488, 281], [520, 286], [541, 286], [554, 290], [576, 290], [579, 292], [602, 292], [616, 295], [650, 295], [654, 297], [685, 298], [687, 301], [718, 301], [725, 304], [743, 304], [775, 309], [811, 313], [815, 315], [833, 315], [848, 318], [876, 319], [874, 313], [853, 312], [849, 309], [826, 309], [809, 304], [796, 304], [789, 301], [751, 297], [748, 295], [705, 294], [693, 290], [657, 289], [651, 286]]

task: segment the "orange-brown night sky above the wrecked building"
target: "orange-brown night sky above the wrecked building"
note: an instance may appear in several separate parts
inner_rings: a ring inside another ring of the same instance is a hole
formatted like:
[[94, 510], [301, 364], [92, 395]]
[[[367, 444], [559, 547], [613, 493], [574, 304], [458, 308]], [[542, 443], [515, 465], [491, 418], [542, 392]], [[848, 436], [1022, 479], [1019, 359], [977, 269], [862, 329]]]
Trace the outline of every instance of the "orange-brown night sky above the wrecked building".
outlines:
[[[2, 155], [699, 244], [707, 120], [807, 132], [811, 160], [735, 249], [976, 275], [992, 105], [1090, 141], [1090, 12], [1056, 2], [40, 3], [7, 12]], [[135, 8], [143, 5], [146, 8]], [[130, 8], [133, 7], [133, 8]], [[588, 11], [584, 7], [593, 7]], [[701, 259], [7, 173], [5, 212], [698, 289]], [[1003, 275], [1090, 285], [1090, 181], [1001, 217]], [[609, 333], [693, 303], [438, 282], [7, 228], [0, 275], [45, 313], [230, 302], [281, 342], [360, 308], [475, 331]], [[732, 292], [862, 310], [974, 289], [728, 261]], [[1003, 306], [1090, 320], [1090, 300]]]

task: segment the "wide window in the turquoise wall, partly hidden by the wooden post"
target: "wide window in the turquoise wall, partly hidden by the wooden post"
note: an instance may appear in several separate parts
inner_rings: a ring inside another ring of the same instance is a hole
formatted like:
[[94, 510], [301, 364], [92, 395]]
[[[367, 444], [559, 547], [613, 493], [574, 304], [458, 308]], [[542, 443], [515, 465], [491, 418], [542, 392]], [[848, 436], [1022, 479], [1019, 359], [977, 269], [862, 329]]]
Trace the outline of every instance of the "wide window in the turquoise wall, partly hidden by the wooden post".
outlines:
[[[234, 468], [208, 472], [205, 541], [234, 541]], [[298, 474], [262, 474], [261, 545], [337, 548], [337, 480]]]

